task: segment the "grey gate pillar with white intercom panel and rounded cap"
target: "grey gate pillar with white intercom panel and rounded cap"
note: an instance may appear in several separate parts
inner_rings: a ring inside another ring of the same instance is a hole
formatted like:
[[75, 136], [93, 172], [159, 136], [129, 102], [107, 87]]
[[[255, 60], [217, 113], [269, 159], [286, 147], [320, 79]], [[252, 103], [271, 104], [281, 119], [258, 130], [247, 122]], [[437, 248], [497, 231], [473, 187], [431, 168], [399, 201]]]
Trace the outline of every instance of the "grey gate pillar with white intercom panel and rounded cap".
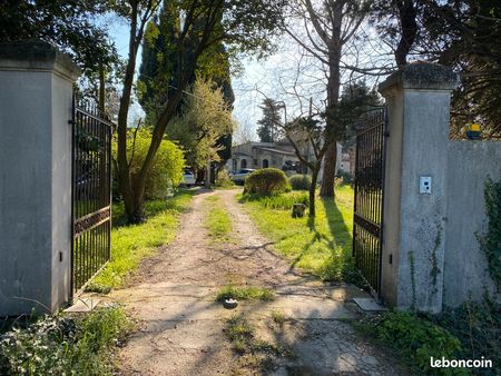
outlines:
[[382, 298], [442, 309], [451, 69], [416, 62], [380, 85], [389, 108]]

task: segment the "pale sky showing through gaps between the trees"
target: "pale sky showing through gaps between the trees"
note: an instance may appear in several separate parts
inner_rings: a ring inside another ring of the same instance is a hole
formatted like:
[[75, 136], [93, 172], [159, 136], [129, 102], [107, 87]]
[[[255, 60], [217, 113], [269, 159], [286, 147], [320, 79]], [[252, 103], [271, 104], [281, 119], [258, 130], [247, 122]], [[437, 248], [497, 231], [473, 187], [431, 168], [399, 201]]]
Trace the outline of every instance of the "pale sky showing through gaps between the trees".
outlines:
[[[106, 22], [119, 53], [127, 57], [129, 33], [127, 22], [116, 17], [105, 17], [102, 22]], [[375, 36], [369, 36], [370, 41], [375, 39]], [[314, 110], [324, 108], [325, 73], [323, 67], [314, 58], [303, 56], [301, 47], [291, 39], [281, 36], [274, 42], [277, 48], [276, 53], [259, 61], [252, 57], [242, 57], [239, 61], [243, 70], [232, 78], [235, 92], [233, 115], [239, 128], [234, 135], [236, 140], [248, 138], [257, 140], [256, 126], [262, 118], [262, 110], [258, 106], [265, 98], [285, 103], [282, 115], [284, 120], [307, 112], [311, 100]], [[348, 53], [346, 55], [348, 56]], [[363, 53], [365, 60], [370, 60], [370, 51]], [[356, 63], [360, 63], [360, 61], [357, 60]], [[367, 65], [372, 63], [374, 62], [367, 62]], [[139, 65], [140, 51], [136, 71], [138, 71]], [[298, 80], [297, 77], [301, 77], [301, 79]], [[376, 85], [377, 79], [369, 78], [367, 83], [370, 86]], [[138, 103], [132, 105], [130, 118], [140, 116], [143, 116], [140, 106]]]

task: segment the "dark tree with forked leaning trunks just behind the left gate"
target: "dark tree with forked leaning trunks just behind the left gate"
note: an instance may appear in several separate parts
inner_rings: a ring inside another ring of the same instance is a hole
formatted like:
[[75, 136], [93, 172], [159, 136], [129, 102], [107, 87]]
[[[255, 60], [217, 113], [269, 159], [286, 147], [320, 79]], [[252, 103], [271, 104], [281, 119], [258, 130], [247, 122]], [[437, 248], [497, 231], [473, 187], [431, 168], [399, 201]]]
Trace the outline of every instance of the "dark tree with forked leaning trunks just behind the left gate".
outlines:
[[[282, 0], [283, 1], [283, 0]], [[159, 6], [158, 1], [128, 1], [124, 14], [130, 20], [129, 57], [125, 73], [120, 111], [118, 116], [118, 177], [128, 220], [143, 219], [145, 180], [155, 154], [169, 125], [178, 113], [184, 91], [196, 73], [204, 52], [224, 41], [232, 48], [265, 52], [269, 48], [269, 34], [281, 13], [272, 0], [165, 0], [164, 9], [169, 14], [173, 40], [163, 63], [174, 67], [163, 69], [173, 72], [166, 80], [165, 100], [158, 103], [158, 116], [153, 126], [151, 144], [138, 175], [131, 177], [127, 164], [127, 117], [134, 83], [136, 56], [147, 22]]]

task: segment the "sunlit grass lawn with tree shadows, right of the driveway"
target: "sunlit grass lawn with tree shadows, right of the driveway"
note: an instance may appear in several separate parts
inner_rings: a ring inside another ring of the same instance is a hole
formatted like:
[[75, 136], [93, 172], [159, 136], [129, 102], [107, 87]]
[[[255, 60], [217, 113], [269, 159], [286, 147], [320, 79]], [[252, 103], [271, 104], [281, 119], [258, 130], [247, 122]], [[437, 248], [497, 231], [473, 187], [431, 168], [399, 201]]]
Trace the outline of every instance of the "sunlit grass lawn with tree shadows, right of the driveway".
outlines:
[[292, 204], [307, 198], [293, 191], [265, 199], [240, 199], [275, 250], [323, 280], [357, 281], [352, 258], [353, 189], [336, 187], [335, 201], [315, 200], [316, 218], [292, 218]]

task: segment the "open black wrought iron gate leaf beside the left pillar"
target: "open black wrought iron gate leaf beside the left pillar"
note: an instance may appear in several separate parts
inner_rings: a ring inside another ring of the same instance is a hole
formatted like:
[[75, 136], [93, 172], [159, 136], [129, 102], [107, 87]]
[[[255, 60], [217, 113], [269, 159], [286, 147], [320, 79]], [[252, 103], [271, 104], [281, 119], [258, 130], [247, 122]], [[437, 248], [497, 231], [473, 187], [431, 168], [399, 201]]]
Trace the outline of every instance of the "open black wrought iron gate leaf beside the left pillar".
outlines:
[[78, 293], [110, 258], [114, 125], [73, 99], [71, 291]]

